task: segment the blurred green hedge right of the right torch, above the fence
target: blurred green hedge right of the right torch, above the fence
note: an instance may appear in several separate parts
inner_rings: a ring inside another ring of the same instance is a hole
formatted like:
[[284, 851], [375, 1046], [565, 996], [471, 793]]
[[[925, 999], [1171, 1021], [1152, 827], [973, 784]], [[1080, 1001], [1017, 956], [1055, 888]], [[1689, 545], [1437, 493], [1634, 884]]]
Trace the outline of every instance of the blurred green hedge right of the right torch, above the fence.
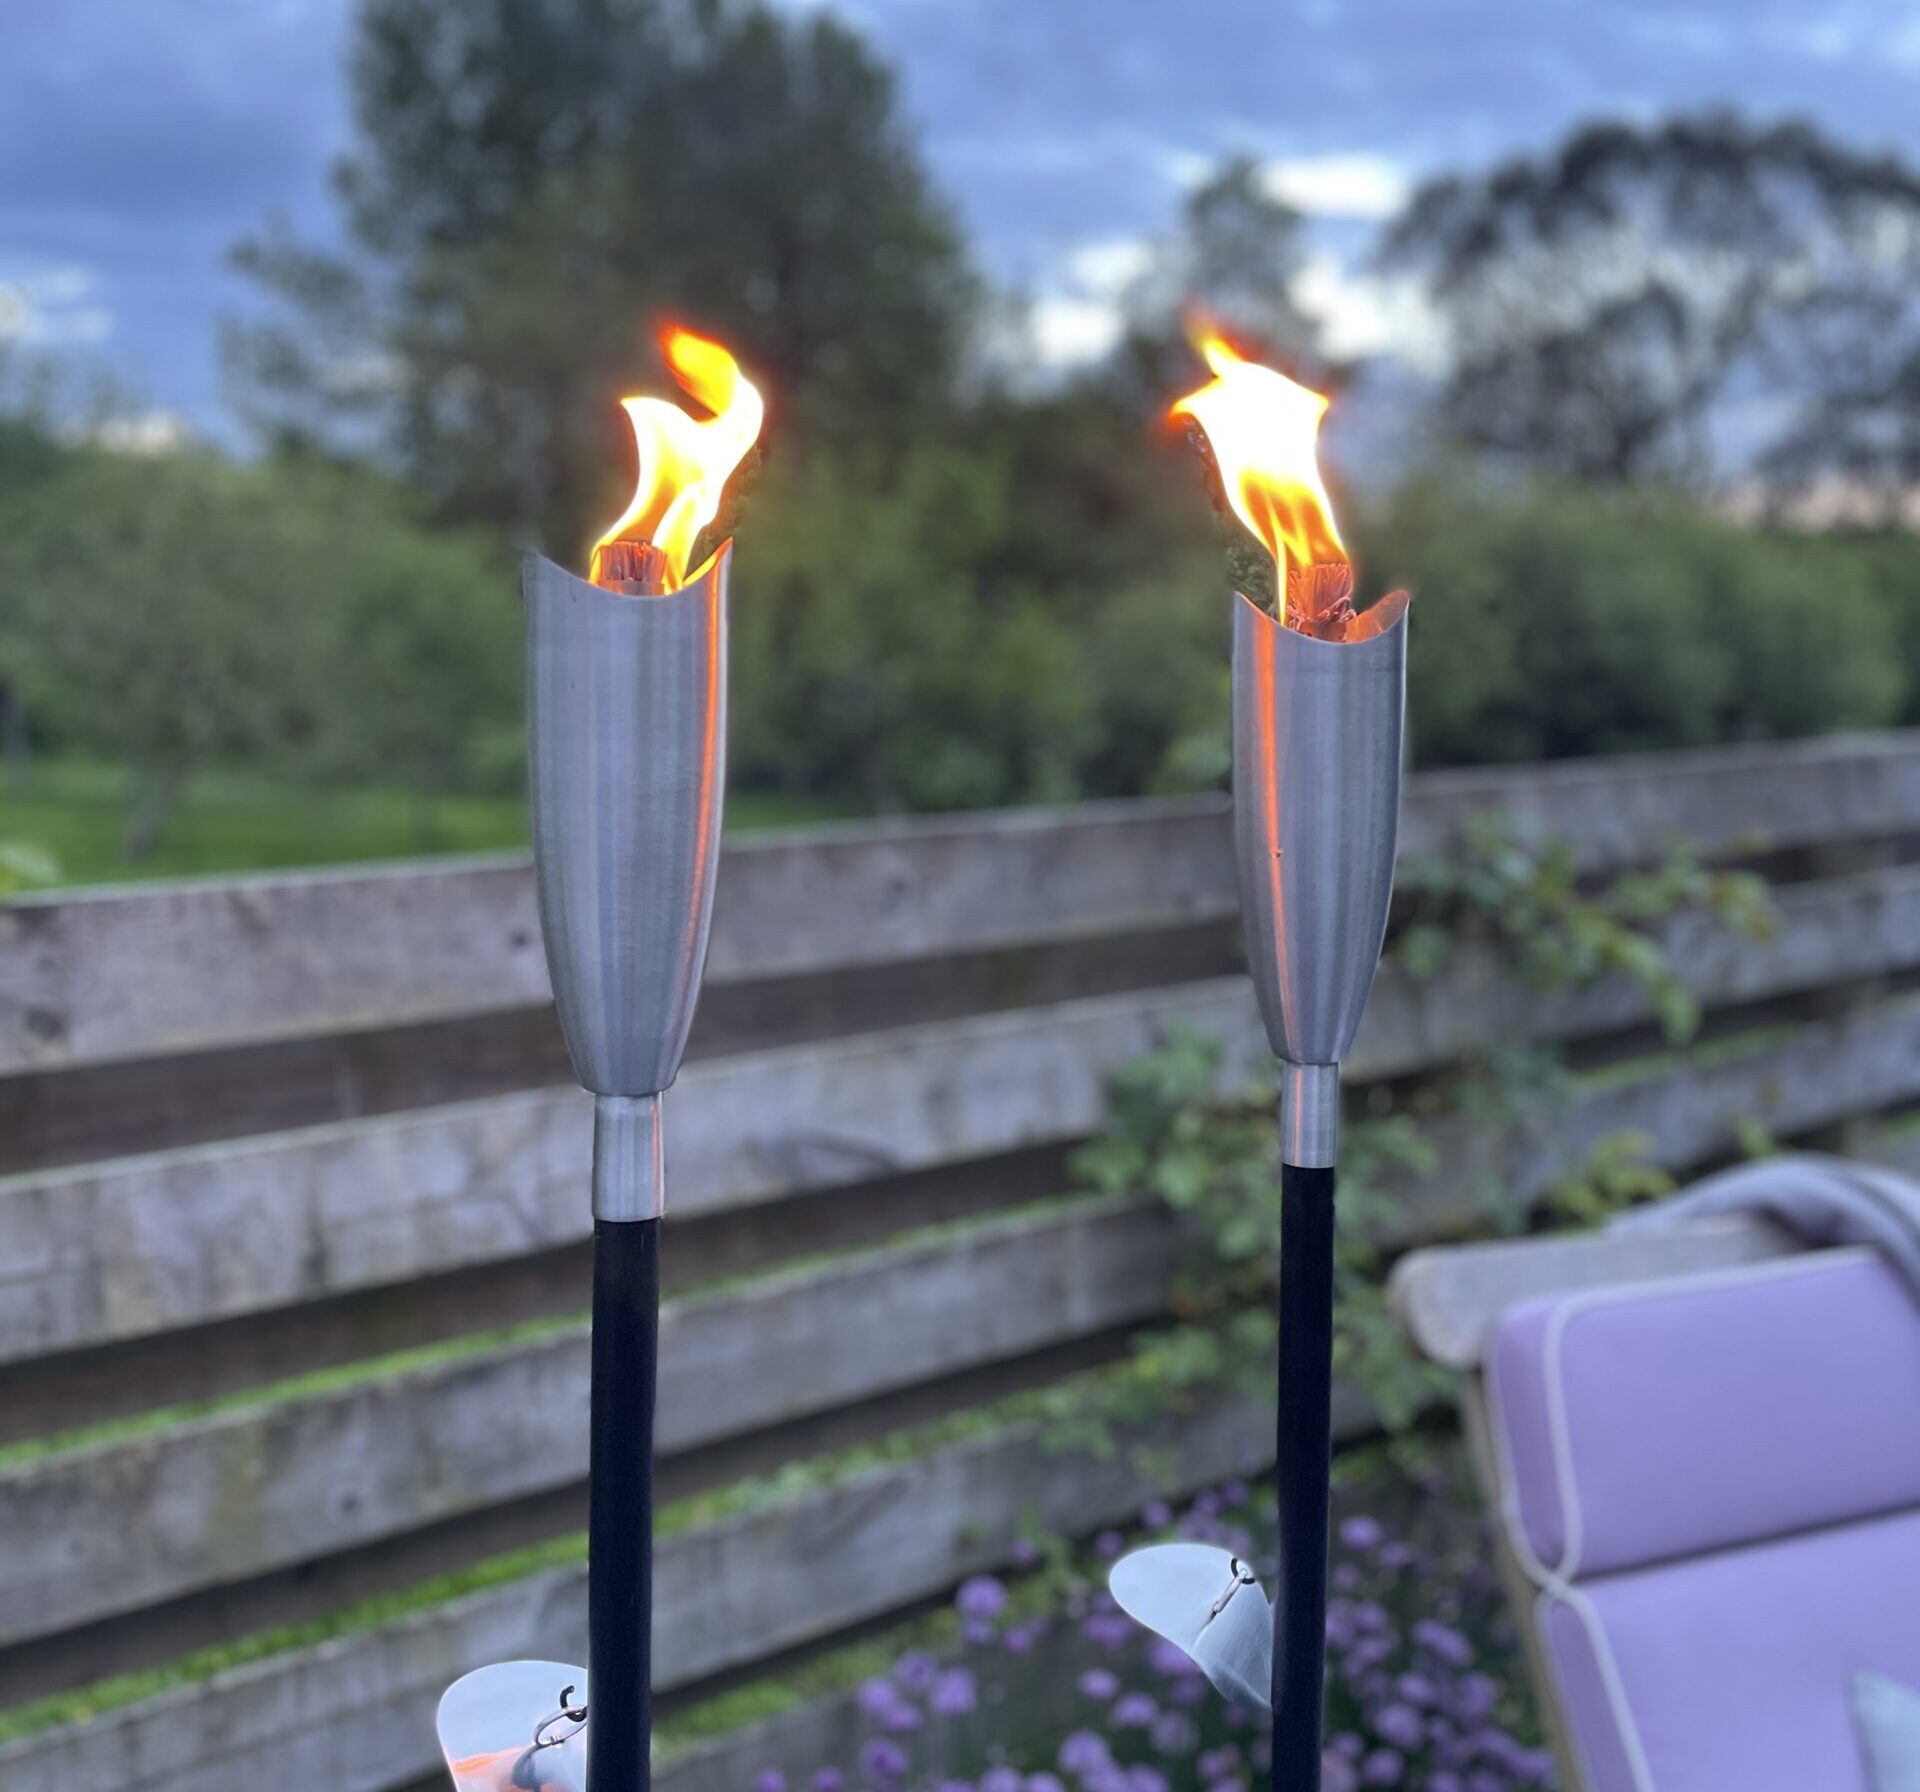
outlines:
[[1872, 728], [1914, 701], [1912, 605], [1845, 538], [1644, 494], [1450, 478], [1411, 482], [1356, 534], [1369, 586], [1415, 593], [1407, 707], [1425, 764]]

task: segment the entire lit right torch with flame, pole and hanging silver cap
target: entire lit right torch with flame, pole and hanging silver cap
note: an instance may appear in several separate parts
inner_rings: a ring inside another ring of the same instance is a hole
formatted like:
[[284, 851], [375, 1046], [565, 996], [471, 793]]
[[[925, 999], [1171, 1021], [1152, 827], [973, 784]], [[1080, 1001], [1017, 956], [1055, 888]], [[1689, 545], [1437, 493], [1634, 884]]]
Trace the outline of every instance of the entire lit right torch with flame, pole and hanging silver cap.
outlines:
[[[1277, 572], [1273, 611], [1244, 593], [1233, 605], [1233, 822], [1248, 966], [1281, 1060], [1273, 1786], [1317, 1792], [1340, 1060], [1394, 887], [1407, 593], [1354, 609], [1354, 569], [1315, 459], [1327, 400], [1217, 334], [1200, 350], [1213, 380], [1173, 415], [1204, 434], [1227, 503]], [[1263, 1598], [1225, 1552], [1142, 1550], [1116, 1565], [1114, 1592], [1217, 1684], [1244, 1681], [1244, 1611]]]

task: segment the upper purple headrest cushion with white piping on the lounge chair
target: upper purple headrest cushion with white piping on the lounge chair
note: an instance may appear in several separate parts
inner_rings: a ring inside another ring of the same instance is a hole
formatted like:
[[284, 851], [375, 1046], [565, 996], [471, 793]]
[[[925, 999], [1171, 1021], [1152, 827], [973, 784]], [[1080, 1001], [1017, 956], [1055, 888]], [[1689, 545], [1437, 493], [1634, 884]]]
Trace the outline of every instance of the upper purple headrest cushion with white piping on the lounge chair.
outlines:
[[1524, 1302], [1488, 1396], [1540, 1579], [1920, 1506], [1920, 1308], [1868, 1252]]

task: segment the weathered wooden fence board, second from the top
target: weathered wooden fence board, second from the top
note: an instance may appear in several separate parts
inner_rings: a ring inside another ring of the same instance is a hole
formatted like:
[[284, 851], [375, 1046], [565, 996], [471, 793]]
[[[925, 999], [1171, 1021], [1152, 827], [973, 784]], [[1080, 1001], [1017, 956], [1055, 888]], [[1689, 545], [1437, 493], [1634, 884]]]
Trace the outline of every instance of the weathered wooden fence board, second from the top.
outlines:
[[[1920, 962], [1920, 868], [1778, 893], [1764, 939], [1688, 914], [1668, 960], [1707, 1005]], [[1534, 991], [1463, 949], [1432, 980], [1388, 960], [1348, 1060], [1404, 1076], [1488, 1037], [1645, 1020], [1626, 980]], [[1081, 1137], [1104, 1078], [1171, 1026], [1261, 1035], [1240, 980], [1094, 997], [691, 1064], [668, 1097], [676, 1212], [781, 1199]], [[586, 1237], [591, 1120], [572, 1089], [0, 1177], [0, 1362], [326, 1298]]]

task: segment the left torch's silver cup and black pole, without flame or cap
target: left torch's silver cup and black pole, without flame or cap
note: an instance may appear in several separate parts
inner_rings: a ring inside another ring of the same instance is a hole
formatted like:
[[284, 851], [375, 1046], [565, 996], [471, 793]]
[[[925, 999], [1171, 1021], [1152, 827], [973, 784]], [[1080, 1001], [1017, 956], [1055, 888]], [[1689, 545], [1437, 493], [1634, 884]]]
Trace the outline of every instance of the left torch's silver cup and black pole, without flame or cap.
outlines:
[[524, 570], [540, 922], [574, 1076], [593, 1095], [591, 1792], [649, 1782], [660, 1099], [712, 918], [730, 559], [724, 545], [666, 595], [588, 584], [538, 555]]

